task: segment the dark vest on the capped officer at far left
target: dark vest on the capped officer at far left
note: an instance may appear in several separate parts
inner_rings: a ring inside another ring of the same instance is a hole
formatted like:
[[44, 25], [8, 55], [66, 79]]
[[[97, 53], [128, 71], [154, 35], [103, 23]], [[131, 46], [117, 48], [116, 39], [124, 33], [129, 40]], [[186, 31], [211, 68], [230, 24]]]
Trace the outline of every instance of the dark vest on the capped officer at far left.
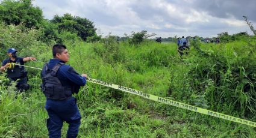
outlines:
[[[11, 59], [9, 59], [9, 63], [11, 62]], [[16, 64], [20, 64], [20, 59], [17, 58], [17, 61], [15, 62]], [[14, 65], [14, 68], [8, 68], [7, 69], [7, 74], [8, 77], [10, 77], [11, 79], [20, 79], [23, 76], [25, 70], [22, 69], [21, 65]]]

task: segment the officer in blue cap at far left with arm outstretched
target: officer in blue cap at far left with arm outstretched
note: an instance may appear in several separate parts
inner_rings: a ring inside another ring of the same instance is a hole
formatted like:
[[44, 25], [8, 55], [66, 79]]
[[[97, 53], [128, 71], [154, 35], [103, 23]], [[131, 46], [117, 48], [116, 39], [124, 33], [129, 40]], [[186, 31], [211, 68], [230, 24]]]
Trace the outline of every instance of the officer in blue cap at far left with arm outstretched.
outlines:
[[10, 81], [12, 82], [12, 81], [18, 80], [16, 85], [17, 90], [27, 91], [30, 88], [30, 85], [28, 85], [27, 83], [28, 82], [27, 71], [21, 65], [24, 65], [24, 63], [27, 61], [35, 61], [36, 58], [17, 57], [17, 50], [14, 48], [8, 49], [7, 55], [9, 56], [9, 58], [5, 59], [2, 62], [2, 67], [0, 68], [0, 71], [5, 71], [7, 69], [7, 76], [10, 79]]

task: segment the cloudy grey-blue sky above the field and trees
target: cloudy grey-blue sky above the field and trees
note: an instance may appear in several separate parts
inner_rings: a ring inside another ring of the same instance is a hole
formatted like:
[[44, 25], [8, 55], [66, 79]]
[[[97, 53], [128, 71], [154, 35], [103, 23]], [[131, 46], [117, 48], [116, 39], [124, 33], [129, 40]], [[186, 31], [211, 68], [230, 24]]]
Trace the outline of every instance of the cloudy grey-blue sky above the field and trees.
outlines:
[[104, 36], [142, 30], [155, 37], [252, 34], [242, 16], [256, 25], [256, 0], [34, 0], [33, 4], [46, 19], [64, 13], [87, 18]]

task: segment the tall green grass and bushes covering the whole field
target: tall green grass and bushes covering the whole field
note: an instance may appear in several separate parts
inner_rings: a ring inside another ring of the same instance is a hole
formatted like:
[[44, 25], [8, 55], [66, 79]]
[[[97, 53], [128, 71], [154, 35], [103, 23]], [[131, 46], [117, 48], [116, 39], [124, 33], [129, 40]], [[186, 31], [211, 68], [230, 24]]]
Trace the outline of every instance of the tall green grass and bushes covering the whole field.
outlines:
[[[108, 35], [86, 43], [76, 31], [59, 31], [57, 24], [44, 20], [45, 27], [27, 28], [2, 22], [0, 60], [14, 47], [19, 56], [38, 59], [26, 65], [42, 68], [52, 58], [51, 46], [59, 41], [68, 47], [68, 64], [79, 73], [256, 122], [255, 36], [223, 33], [223, 40], [228, 41], [220, 44], [195, 38], [190, 40], [189, 55], [180, 58], [176, 43], [145, 41], [145, 31], [134, 32], [123, 41]], [[0, 137], [48, 137], [40, 70], [27, 70], [31, 89], [21, 94], [0, 74]], [[88, 82], [75, 97], [83, 117], [80, 137], [256, 137], [255, 128], [247, 125], [94, 83]], [[64, 124], [63, 137], [66, 130]]]

